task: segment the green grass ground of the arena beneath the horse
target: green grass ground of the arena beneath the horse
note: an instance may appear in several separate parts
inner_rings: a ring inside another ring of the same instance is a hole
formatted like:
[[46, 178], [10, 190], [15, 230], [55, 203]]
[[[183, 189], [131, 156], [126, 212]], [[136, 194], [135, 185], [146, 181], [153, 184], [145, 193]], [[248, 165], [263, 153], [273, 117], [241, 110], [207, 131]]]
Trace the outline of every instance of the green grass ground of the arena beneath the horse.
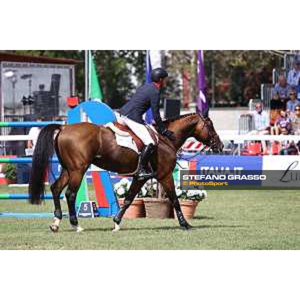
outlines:
[[[0, 187], [0, 193], [25, 188]], [[89, 192], [92, 195], [91, 187]], [[62, 200], [62, 210], [67, 212]], [[52, 212], [52, 201], [32, 206], [0, 200], [0, 212]], [[110, 218], [79, 219], [75, 233], [63, 218], [58, 233], [51, 219], [0, 218], [0, 249], [299, 249], [300, 193], [292, 190], [208, 191], [200, 202], [195, 227], [184, 231], [174, 219], [123, 219], [111, 232]]]

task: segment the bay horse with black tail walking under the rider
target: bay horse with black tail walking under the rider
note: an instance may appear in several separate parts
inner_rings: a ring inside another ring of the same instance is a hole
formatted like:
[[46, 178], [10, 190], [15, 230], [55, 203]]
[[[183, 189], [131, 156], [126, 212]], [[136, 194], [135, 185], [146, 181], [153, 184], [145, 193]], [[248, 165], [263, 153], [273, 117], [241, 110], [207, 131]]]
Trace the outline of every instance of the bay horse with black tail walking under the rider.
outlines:
[[[156, 173], [157, 181], [161, 183], [175, 209], [179, 225], [184, 229], [191, 229], [191, 225], [181, 212], [172, 177], [176, 153], [188, 137], [201, 141], [213, 152], [221, 152], [223, 144], [209, 117], [203, 117], [198, 113], [166, 120], [164, 125], [174, 132], [176, 140], [170, 141], [159, 135], [159, 141], [150, 163]], [[29, 202], [32, 204], [39, 204], [43, 200], [44, 178], [54, 150], [62, 170], [58, 179], [50, 186], [54, 201], [54, 222], [50, 225], [53, 232], [58, 230], [62, 218], [59, 196], [66, 186], [65, 197], [70, 224], [76, 231], [82, 230], [76, 217], [75, 199], [82, 177], [90, 164], [119, 174], [130, 174], [134, 173], [139, 162], [139, 155], [129, 148], [117, 145], [114, 132], [105, 126], [87, 122], [47, 125], [39, 133], [32, 156], [28, 188]], [[113, 217], [116, 230], [119, 229], [126, 209], [147, 180], [138, 180], [136, 176], [133, 176], [124, 204]]]

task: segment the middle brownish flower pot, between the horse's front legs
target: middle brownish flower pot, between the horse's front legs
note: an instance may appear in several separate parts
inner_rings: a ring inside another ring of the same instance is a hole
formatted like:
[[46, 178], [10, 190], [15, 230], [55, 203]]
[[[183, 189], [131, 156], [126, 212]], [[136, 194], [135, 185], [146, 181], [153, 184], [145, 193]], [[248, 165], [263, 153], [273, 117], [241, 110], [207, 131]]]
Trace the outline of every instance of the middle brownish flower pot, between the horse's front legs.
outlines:
[[172, 206], [166, 198], [144, 198], [146, 217], [168, 218], [172, 217]]

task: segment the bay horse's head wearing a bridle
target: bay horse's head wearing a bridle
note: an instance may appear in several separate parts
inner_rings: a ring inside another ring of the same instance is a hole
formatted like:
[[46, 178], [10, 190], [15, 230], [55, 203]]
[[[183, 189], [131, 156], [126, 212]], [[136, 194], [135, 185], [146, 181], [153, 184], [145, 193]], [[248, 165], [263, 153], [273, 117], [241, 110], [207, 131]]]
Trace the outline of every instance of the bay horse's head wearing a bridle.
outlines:
[[204, 117], [200, 115], [193, 132], [193, 137], [202, 141], [206, 146], [209, 146], [215, 153], [220, 153], [224, 147], [208, 116]]

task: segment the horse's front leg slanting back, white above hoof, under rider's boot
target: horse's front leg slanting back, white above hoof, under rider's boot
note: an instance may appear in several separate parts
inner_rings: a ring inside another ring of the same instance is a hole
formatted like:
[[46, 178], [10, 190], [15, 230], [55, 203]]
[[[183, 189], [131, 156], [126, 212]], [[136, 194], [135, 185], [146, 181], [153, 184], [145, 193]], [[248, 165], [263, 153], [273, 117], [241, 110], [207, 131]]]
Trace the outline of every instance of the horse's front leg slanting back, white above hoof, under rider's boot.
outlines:
[[119, 209], [117, 214], [113, 217], [113, 222], [114, 222], [113, 231], [118, 231], [120, 229], [119, 225], [121, 223], [122, 217], [123, 217], [126, 209], [130, 206], [130, 204], [134, 200], [134, 197], [136, 196], [136, 194], [139, 192], [139, 190], [141, 189], [141, 187], [145, 184], [145, 182], [147, 180], [148, 179], [137, 180], [136, 177], [133, 177], [132, 183], [131, 183], [130, 188], [128, 190], [128, 195], [125, 197], [124, 204]]

